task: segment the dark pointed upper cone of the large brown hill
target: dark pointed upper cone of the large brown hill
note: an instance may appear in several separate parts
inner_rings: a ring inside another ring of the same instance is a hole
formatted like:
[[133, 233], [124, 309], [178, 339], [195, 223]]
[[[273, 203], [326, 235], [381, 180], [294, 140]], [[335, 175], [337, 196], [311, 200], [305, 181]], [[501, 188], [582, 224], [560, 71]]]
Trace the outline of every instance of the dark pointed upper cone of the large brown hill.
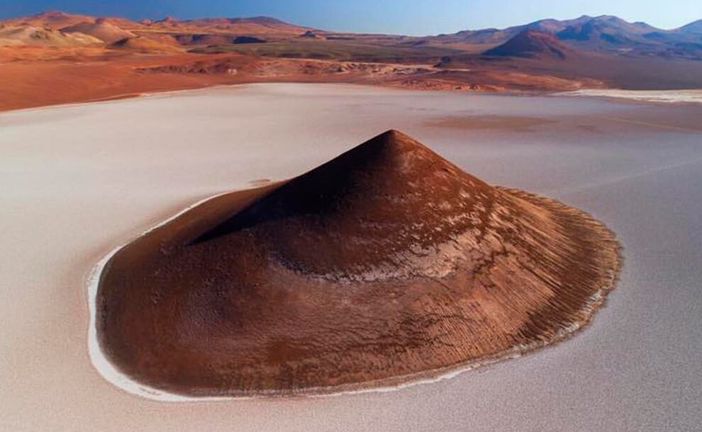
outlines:
[[444, 275], [457, 259], [455, 236], [481, 224], [495, 194], [428, 147], [389, 130], [293, 178], [193, 246], [247, 232], [282, 266], [313, 277]]

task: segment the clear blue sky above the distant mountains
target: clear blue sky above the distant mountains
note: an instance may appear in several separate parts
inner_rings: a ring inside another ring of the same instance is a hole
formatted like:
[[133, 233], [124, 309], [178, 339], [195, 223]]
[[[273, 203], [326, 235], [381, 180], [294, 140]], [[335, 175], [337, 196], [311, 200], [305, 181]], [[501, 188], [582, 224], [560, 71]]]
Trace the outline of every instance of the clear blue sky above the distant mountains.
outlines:
[[616, 15], [676, 28], [702, 19], [702, 0], [0, 0], [0, 17], [60, 9], [129, 18], [267, 15], [330, 30], [428, 35], [540, 18]]

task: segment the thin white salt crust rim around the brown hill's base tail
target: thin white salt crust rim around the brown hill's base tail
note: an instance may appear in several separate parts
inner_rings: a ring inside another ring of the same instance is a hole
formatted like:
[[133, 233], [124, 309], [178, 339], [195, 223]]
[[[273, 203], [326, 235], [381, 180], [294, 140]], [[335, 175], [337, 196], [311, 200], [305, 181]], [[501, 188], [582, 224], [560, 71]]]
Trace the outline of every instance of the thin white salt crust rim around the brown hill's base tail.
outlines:
[[[184, 214], [185, 212], [196, 208], [197, 206], [206, 203], [209, 200], [217, 198], [222, 195], [227, 195], [231, 192], [218, 193], [204, 200], [200, 200], [193, 205], [181, 210], [177, 214], [169, 217], [155, 226], [147, 229], [145, 232], [141, 233], [137, 238], [143, 237], [145, 234], [152, 232], [154, 229], [161, 227], [168, 222], [171, 222], [175, 218]], [[127, 243], [128, 244], [128, 243]], [[588, 317], [582, 322], [575, 322], [559, 329], [551, 341], [535, 341], [533, 343], [523, 344], [519, 346], [514, 346], [513, 348], [503, 351], [496, 356], [489, 356], [488, 358], [480, 358], [477, 360], [469, 360], [467, 363], [462, 363], [459, 365], [447, 366], [445, 368], [439, 368], [435, 370], [427, 370], [419, 373], [414, 373], [411, 375], [401, 375], [398, 377], [391, 377], [384, 380], [378, 380], [375, 382], [379, 383], [378, 387], [372, 387], [374, 381], [360, 382], [356, 385], [345, 385], [340, 387], [310, 387], [306, 389], [301, 389], [298, 392], [262, 392], [261, 394], [253, 396], [186, 396], [183, 394], [176, 394], [165, 392], [164, 390], [159, 390], [154, 387], [143, 385], [140, 382], [133, 380], [128, 377], [128, 375], [122, 373], [118, 370], [105, 356], [105, 353], [100, 348], [100, 344], [97, 337], [97, 326], [96, 326], [96, 311], [97, 311], [97, 292], [100, 284], [100, 278], [102, 272], [108, 261], [114, 256], [118, 251], [120, 251], [127, 244], [122, 244], [112, 249], [106, 256], [104, 256], [96, 265], [91, 269], [87, 275], [86, 285], [87, 285], [87, 296], [88, 296], [88, 309], [89, 309], [89, 328], [88, 328], [88, 352], [90, 356], [90, 361], [94, 368], [98, 371], [105, 380], [110, 382], [115, 387], [118, 387], [125, 392], [134, 394], [135, 396], [144, 397], [152, 401], [157, 402], [221, 402], [230, 400], [243, 400], [243, 399], [262, 399], [270, 397], [328, 397], [328, 396], [340, 396], [344, 394], [362, 394], [362, 393], [373, 393], [373, 392], [395, 392], [398, 390], [403, 390], [408, 387], [413, 387], [415, 385], [430, 384], [433, 382], [439, 382], [442, 380], [450, 380], [458, 375], [467, 372], [468, 370], [473, 370], [479, 368], [480, 366], [490, 365], [492, 363], [497, 363], [501, 360], [506, 360], [509, 358], [518, 358], [524, 353], [534, 351], [537, 348], [542, 348], [544, 346], [550, 345], [552, 343], [562, 341], [567, 337], [571, 336], [575, 331], [580, 329], [584, 324], [589, 322], [592, 313], [598, 309], [598, 307], [603, 303], [606, 293], [614, 288], [615, 285], [615, 275], [612, 275], [612, 282], [606, 286], [601, 287], [597, 292], [592, 295], [586, 305], [584, 306], [584, 312], [587, 312]], [[399, 382], [395, 385], [383, 385], [383, 382]], [[357, 386], [358, 388], [353, 388]]]

